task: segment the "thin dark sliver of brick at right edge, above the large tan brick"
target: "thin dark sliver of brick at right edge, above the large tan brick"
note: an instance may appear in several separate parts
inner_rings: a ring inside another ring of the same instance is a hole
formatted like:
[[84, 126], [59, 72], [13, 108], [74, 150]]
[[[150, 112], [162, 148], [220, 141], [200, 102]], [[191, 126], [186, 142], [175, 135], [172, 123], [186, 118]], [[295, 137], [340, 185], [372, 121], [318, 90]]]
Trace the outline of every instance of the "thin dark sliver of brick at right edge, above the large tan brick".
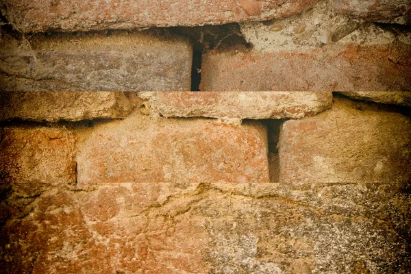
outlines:
[[411, 92], [407, 91], [351, 91], [341, 93], [353, 99], [411, 107]]

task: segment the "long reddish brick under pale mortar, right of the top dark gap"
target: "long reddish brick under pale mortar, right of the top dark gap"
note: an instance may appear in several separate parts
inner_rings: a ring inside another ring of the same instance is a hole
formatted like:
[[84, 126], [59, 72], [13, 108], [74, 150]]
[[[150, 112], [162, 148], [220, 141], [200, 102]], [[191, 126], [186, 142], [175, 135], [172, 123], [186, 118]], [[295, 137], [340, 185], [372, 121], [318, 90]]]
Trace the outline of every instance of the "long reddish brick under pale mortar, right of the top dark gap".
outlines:
[[409, 46], [329, 45], [273, 53], [212, 51], [203, 55], [200, 89], [411, 90], [410, 64]]

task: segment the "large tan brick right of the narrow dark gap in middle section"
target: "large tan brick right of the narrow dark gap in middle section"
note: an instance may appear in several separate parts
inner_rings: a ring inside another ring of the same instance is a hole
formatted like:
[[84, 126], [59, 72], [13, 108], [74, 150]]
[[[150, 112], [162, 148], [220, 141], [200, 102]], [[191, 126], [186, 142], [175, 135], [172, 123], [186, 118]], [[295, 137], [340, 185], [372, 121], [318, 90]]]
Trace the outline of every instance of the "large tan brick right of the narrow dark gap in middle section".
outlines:
[[282, 125], [279, 181], [408, 182], [410, 117], [382, 105], [334, 101], [328, 112]]

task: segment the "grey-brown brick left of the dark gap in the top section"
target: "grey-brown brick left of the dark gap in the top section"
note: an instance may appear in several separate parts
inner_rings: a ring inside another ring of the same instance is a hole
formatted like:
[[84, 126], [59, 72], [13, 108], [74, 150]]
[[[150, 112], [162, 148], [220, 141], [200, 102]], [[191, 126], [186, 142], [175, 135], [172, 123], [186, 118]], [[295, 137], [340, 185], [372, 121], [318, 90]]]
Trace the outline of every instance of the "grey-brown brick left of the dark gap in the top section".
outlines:
[[190, 90], [192, 47], [179, 38], [118, 31], [27, 41], [3, 40], [1, 90]]

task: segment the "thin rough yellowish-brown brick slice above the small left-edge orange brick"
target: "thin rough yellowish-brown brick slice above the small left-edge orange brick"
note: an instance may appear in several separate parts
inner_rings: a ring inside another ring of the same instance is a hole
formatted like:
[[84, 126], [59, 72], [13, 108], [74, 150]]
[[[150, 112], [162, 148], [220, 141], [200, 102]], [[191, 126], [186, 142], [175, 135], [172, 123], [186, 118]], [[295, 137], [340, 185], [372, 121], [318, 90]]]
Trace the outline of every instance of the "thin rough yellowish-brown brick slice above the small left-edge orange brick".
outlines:
[[139, 101], [132, 92], [0, 92], [0, 120], [119, 119]]

